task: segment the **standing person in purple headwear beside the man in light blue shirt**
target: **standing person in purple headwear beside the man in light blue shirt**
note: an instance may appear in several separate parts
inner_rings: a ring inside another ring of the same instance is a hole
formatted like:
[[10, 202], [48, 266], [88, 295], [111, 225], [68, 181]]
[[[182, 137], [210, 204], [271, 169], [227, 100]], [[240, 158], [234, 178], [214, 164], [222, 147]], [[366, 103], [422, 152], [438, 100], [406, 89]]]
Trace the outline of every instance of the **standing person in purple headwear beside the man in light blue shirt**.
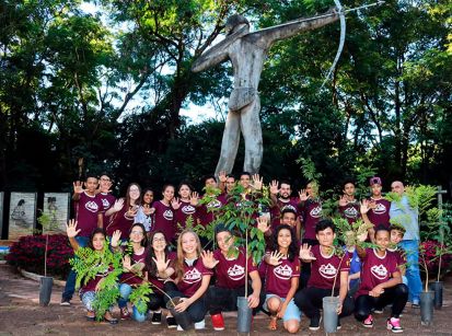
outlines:
[[[361, 213], [364, 222], [373, 224], [372, 229], [369, 229], [369, 237], [372, 241], [375, 236], [374, 232], [376, 227], [383, 225], [386, 229], [390, 228], [390, 208], [391, 201], [384, 199], [382, 190], [382, 182], [380, 177], [370, 178], [370, 188], [372, 196], [369, 199], [369, 211], [364, 215]], [[372, 241], [373, 242], [373, 241]]]

